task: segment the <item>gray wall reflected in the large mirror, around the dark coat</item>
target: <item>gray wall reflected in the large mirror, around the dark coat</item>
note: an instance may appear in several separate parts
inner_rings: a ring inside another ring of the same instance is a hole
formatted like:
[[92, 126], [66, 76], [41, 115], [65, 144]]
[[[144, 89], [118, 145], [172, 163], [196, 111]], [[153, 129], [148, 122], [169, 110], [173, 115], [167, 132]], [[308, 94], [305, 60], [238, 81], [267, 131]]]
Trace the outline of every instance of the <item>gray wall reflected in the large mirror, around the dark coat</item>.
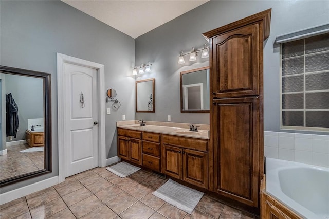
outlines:
[[[6, 94], [11, 93], [19, 108], [19, 130], [11, 141], [26, 139], [28, 119], [44, 117], [43, 112], [43, 80], [41, 78], [20, 75], [6, 75]], [[7, 142], [10, 138], [7, 137]]]

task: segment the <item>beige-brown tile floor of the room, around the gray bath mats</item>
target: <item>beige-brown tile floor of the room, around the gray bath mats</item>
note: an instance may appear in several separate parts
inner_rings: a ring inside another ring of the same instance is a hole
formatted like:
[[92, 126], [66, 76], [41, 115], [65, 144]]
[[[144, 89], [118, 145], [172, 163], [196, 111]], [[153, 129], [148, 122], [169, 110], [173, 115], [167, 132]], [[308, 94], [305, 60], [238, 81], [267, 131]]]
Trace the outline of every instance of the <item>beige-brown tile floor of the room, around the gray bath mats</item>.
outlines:
[[143, 170], [120, 178], [95, 168], [1, 205], [0, 218], [258, 218], [208, 195], [187, 214], [152, 195], [165, 182]]

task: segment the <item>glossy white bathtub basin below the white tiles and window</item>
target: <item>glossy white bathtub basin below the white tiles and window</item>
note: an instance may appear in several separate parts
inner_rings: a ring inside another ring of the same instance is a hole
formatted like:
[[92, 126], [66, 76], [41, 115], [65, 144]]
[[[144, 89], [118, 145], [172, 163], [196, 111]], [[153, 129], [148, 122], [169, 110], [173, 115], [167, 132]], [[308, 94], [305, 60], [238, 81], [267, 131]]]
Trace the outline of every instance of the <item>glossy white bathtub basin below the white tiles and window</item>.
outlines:
[[266, 158], [266, 192], [303, 218], [329, 218], [329, 168]]

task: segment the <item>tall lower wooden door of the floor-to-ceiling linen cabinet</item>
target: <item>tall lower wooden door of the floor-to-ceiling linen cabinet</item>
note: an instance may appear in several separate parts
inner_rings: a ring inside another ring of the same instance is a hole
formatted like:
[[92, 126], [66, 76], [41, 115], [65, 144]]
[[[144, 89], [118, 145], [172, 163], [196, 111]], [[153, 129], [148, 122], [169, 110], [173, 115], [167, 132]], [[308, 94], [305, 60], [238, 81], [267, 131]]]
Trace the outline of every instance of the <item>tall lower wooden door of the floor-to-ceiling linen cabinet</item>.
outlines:
[[258, 207], [260, 177], [259, 98], [213, 100], [216, 192]]

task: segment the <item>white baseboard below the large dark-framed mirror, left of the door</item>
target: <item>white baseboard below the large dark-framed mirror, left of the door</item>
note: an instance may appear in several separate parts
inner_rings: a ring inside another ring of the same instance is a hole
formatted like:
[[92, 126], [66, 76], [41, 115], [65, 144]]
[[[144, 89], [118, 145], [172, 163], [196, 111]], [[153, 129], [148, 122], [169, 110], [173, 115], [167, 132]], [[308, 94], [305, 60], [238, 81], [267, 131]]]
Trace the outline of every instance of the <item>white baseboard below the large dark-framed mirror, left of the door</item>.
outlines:
[[17, 198], [32, 194], [33, 192], [38, 192], [48, 187], [57, 185], [58, 180], [59, 180], [58, 176], [54, 176], [49, 179], [35, 182], [34, 184], [31, 185], [24, 186], [22, 188], [0, 194], [0, 205], [5, 204], [7, 202], [11, 202], [12, 200], [15, 200]]

